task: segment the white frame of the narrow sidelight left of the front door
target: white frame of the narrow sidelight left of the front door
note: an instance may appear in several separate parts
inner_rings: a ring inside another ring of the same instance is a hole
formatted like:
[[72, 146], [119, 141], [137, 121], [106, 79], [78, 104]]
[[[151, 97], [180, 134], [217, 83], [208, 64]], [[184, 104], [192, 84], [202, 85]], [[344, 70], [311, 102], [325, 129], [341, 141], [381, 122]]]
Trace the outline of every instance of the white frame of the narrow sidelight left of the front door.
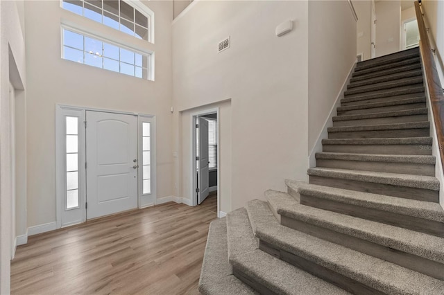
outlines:
[[[66, 117], [78, 118], [78, 207], [66, 208]], [[65, 105], [56, 106], [56, 216], [57, 228], [85, 222], [85, 109]]]

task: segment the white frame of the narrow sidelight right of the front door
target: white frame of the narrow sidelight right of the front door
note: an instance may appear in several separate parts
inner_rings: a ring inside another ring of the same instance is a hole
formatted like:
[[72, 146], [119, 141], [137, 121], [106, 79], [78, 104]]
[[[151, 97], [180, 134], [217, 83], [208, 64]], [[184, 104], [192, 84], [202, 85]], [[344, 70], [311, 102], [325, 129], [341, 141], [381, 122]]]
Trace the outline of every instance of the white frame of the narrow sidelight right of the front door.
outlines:
[[[156, 175], [157, 175], [157, 166], [156, 166], [156, 119], [153, 115], [139, 114], [138, 118], [139, 125], [139, 208], [145, 208], [149, 206], [153, 206], [157, 203], [157, 186], [156, 186]], [[143, 149], [142, 149], [142, 124], [150, 123], [150, 166], [151, 166], [151, 193], [144, 194], [144, 177], [143, 177]]]

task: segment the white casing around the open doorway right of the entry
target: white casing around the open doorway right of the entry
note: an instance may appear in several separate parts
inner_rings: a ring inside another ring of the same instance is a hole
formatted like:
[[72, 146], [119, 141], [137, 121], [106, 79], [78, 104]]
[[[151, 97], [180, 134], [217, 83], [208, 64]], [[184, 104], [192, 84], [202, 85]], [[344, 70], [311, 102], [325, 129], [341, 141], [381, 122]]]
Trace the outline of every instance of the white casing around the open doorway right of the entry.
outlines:
[[[192, 134], [192, 138], [191, 138], [191, 206], [196, 206], [197, 205], [197, 195], [196, 195], [196, 188], [197, 188], [197, 168], [196, 168], [196, 117], [198, 116], [203, 116], [203, 115], [209, 115], [209, 114], [214, 114], [216, 113], [216, 117], [217, 120], [219, 122], [220, 117], [219, 117], [219, 107], [214, 107], [212, 109], [205, 109], [203, 111], [196, 111], [195, 113], [192, 113], [191, 116], [191, 134]], [[217, 217], [221, 217], [220, 213], [221, 213], [221, 207], [220, 207], [220, 203], [221, 203], [221, 194], [220, 194], [220, 188], [221, 188], [221, 173], [219, 170], [219, 165], [220, 165], [220, 141], [219, 141], [219, 124], [216, 124], [217, 126], [217, 130], [216, 130], [216, 134], [217, 134]]]

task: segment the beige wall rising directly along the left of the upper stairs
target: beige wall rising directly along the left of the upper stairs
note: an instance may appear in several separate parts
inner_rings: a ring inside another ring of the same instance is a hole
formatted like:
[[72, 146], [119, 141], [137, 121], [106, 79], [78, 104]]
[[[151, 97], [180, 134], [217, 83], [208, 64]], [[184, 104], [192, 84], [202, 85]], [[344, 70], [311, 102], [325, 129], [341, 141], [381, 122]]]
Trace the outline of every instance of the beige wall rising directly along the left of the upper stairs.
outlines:
[[348, 1], [309, 1], [309, 151], [356, 61], [357, 24], [348, 5]]

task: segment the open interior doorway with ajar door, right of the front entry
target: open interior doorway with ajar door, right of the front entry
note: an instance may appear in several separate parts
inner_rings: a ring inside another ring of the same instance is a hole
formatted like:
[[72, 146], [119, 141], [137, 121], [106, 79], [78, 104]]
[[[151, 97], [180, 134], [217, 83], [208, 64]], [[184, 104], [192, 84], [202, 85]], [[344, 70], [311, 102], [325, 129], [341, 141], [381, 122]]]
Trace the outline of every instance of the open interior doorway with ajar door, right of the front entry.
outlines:
[[218, 111], [192, 117], [193, 128], [193, 203], [218, 212]]

